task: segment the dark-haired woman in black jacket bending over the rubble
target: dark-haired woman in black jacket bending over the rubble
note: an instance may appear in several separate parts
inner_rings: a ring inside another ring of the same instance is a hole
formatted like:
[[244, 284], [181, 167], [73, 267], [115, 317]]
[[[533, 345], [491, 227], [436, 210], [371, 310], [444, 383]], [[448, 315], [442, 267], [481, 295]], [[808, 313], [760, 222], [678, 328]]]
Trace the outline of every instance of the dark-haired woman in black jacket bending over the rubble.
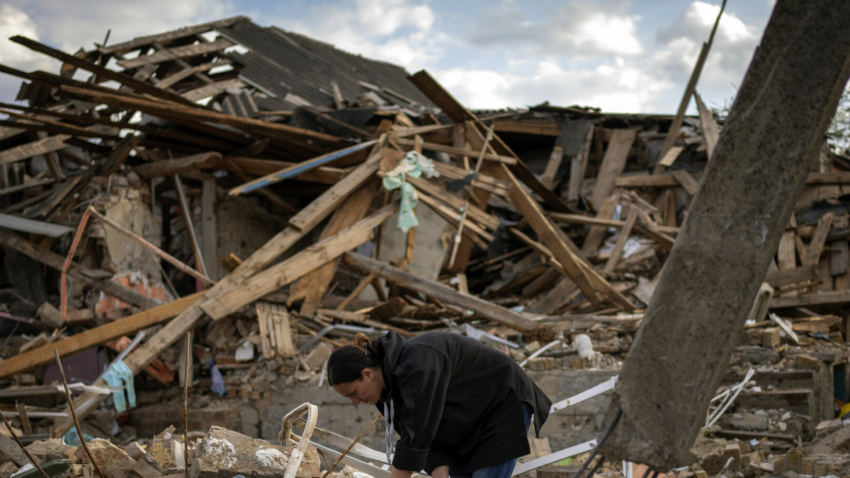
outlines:
[[[364, 334], [328, 359], [327, 379], [354, 405], [374, 404], [387, 422], [390, 478], [425, 470], [436, 478], [508, 478], [530, 453], [551, 402], [501, 351], [449, 332], [406, 340]], [[392, 430], [399, 434], [394, 454]]]

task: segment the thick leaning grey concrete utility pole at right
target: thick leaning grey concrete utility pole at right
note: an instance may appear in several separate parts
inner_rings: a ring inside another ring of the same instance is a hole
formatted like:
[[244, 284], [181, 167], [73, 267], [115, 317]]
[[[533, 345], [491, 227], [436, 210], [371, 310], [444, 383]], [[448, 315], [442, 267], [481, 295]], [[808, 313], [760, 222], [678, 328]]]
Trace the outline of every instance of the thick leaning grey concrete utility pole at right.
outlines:
[[601, 447], [690, 464], [850, 74], [850, 2], [779, 0], [623, 364]]

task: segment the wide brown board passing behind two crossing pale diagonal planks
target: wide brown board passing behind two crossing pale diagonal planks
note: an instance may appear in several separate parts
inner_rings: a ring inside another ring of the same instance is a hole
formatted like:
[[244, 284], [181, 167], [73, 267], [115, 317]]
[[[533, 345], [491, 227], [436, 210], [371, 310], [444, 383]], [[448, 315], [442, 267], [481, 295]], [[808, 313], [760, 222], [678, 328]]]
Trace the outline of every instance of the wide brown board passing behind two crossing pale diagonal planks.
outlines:
[[[340, 233], [343, 229], [350, 228], [355, 222], [365, 217], [378, 188], [380, 188], [379, 180], [377, 177], [373, 177], [357, 189], [354, 194], [351, 194], [348, 200], [331, 216], [331, 220], [322, 230], [319, 239], [327, 239]], [[319, 302], [325, 295], [327, 286], [331, 284], [334, 274], [337, 273], [338, 264], [339, 259], [337, 258], [337, 260], [330, 261], [293, 282], [289, 286], [289, 299], [287, 299], [286, 305], [291, 306], [293, 302], [303, 299], [300, 315], [302, 317], [313, 317]]]

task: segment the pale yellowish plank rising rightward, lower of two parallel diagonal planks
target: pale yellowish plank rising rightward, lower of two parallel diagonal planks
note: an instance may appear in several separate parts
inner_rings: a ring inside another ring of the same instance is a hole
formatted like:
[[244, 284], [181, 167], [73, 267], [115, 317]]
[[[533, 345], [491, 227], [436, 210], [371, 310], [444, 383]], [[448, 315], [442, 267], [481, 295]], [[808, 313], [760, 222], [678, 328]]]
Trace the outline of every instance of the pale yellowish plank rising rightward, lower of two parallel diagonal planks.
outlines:
[[314, 271], [329, 261], [341, 256], [347, 250], [353, 250], [372, 239], [376, 228], [388, 217], [392, 216], [397, 205], [388, 205], [376, 211], [370, 217], [356, 222], [327, 239], [320, 240], [295, 256], [269, 267], [262, 273], [246, 279], [239, 287], [218, 298], [204, 301], [201, 309], [211, 318], [218, 320], [227, 317], [241, 306], [256, 301], [263, 295], [279, 290], [304, 274]]

